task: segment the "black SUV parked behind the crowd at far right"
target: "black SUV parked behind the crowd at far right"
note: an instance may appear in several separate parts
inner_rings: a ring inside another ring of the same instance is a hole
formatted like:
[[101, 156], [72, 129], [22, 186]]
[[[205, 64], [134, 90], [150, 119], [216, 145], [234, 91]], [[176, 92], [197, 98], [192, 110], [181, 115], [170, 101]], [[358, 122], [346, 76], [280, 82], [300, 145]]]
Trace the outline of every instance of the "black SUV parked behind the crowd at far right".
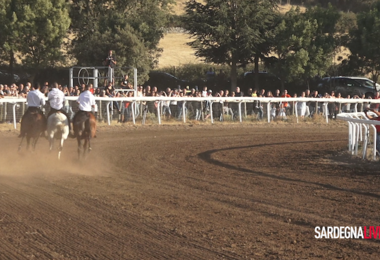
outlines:
[[376, 83], [376, 89], [374, 82], [370, 79], [363, 77], [326, 77], [318, 84], [318, 91], [331, 93], [341, 93], [343, 97], [350, 95], [351, 97], [358, 95], [365, 95], [373, 97], [376, 91], [380, 91], [380, 85]]

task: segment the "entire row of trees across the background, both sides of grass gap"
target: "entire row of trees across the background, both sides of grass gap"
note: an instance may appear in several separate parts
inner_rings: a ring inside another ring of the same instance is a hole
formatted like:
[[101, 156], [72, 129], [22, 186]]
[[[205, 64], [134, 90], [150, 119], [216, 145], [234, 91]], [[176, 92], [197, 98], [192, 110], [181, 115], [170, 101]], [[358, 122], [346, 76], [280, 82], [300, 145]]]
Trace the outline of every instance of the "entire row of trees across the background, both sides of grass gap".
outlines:
[[[368, 2], [368, 1], [367, 1]], [[173, 0], [2, 0], [0, 62], [32, 75], [47, 67], [100, 65], [109, 49], [118, 65], [137, 67], [139, 80], [157, 63], [163, 28]], [[345, 74], [372, 73], [380, 66], [380, 2], [358, 14], [331, 5], [278, 12], [278, 0], [206, 0], [186, 3], [184, 27], [206, 62], [237, 68], [259, 63], [283, 82], [308, 83], [333, 65], [341, 46]]]

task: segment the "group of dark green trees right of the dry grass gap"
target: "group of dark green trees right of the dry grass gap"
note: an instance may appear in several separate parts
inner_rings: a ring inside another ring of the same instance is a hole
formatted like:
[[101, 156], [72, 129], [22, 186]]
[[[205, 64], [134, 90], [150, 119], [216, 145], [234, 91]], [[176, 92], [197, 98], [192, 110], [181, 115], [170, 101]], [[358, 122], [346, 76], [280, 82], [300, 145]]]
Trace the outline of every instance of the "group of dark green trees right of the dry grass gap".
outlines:
[[190, 45], [207, 62], [231, 66], [232, 88], [237, 83], [236, 68], [251, 62], [256, 72], [259, 62], [264, 63], [282, 84], [298, 80], [308, 85], [310, 79], [328, 73], [342, 46], [351, 55], [340, 58], [345, 66], [341, 71], [371, 73], [377, 81], [380, 2], [357, 17], [331, 5], [281, 14], [277, 4], [270, 0], [191, 0], [184, 17], [184, 25], [195, 39]]

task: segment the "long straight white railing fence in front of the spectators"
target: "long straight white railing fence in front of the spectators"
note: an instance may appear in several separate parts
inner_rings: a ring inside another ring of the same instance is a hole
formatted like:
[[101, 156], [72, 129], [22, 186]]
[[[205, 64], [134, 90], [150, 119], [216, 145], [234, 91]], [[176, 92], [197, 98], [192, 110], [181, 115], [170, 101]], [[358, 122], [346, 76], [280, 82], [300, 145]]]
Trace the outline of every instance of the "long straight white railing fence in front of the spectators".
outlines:
[[[72, 117], [78, 110], [78, 97], [67, 97], [66, 112]], [[288, 103], [288, 108], [284, 104]], [[267, 118], [268, 123], [276, 117], [286, 118], [301, 116], [299, 107], [306, 107], [308, 114], [321, 114], [329, 121], [329, 116], [340, 112], [360, 112], [364, 108], [380, 104], [374, 99], [328, 99], [328, 98], [257, 98], [257, 97], [96, 97], [95, 114], [98, 120], [111, 124], [113, 120], [121, 122], [141, 120], [142, 124], [150, 120], [162, 124], [162, 119], [175, 118], [179, 121], [205, 120], [239, 121], [243, 122], [248, 116], [257, 119]], [[17, 122], [27, 109], [25, 98], [0, 99], [0, 122]], [[45, 113], [50, 109], [49, 104], [42, 108]], [[303, 112], [302, 112], [303, 113]], [[306, 116], [308, 116], [306, 114]], [[265, 117], [264, 117], [265, 115]]]

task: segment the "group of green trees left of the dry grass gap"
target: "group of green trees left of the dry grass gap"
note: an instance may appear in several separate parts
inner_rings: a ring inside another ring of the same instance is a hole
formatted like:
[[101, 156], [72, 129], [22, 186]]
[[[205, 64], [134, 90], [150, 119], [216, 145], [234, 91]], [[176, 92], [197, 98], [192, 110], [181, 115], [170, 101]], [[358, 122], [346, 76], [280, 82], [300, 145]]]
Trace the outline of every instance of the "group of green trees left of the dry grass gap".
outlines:
[[2, 0], [0, 62], [32, 75], [74, 64], [137, 67], [142, 81], [157, 63], [173, 0]]

